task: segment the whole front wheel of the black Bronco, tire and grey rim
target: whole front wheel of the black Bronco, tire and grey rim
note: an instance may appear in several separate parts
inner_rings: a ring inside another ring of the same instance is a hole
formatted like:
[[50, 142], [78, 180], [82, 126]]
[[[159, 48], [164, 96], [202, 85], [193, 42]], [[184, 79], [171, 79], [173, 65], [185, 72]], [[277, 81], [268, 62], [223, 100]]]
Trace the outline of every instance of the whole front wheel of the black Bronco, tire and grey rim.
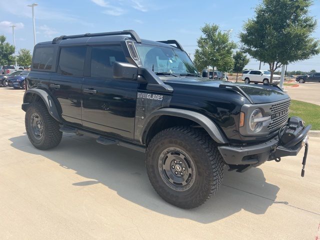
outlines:
[[145, 165], [155, 191], [167, 202], [193, 208], [209, 199], [223, 178], [223, 160], [206, 132], [185, 126], [157, 133]]

